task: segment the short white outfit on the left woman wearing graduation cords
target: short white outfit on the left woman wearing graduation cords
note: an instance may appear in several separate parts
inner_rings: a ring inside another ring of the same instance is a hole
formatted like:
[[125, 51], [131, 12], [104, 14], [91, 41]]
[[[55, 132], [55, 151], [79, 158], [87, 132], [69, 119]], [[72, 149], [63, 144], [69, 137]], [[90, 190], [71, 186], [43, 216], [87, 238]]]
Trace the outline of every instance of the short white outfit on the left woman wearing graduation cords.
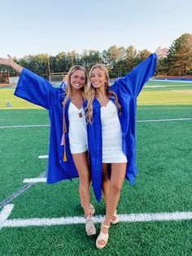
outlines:
[[76, 108], [70, 102], [68, 108], [69, 120], [69, 144], [73, 154], [85, 152], [88, 149], [85, 111], [83, 108]]

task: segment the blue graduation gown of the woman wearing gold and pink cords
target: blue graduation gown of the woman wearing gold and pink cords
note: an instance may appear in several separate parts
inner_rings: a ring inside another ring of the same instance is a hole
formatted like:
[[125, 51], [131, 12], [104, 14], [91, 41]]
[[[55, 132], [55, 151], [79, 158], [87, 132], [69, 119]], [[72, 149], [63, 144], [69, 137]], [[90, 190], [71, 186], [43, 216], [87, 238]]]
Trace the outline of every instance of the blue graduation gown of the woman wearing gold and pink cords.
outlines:
[[62, 179], [78, 177], [76, 166], [72, 160], [72, 154], [68, 139], [68, 107], [70, 99], [65, 105], [65, 120], [67, 132], [65, 133], [67, 161], [63, 161], [63, 146], [60, 145], [63, 135], [63, 88], [51, 86], [46, 79], [23, 68], [20, 80], [16, 86], [14, 95], [26, 99], [49, 110], [50, 114], [50, 148], [47, 170], [47, 183], [56, 183]]

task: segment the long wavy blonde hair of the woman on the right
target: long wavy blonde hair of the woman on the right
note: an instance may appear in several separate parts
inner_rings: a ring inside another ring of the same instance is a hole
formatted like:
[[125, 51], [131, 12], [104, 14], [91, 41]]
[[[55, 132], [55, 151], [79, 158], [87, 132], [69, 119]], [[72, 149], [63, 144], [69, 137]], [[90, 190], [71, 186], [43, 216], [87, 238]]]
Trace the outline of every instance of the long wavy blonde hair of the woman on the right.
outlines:
[[116, 93], [114, 91], [110, 90], [109, 73], [108, 73], [108, 70], [107, 70], [106, 66], [103, 65], [103, 64], [96, 64], [96, 65], [94, 65], [94, 67], [92, 67], [90, 69], [89, 82], [88, 82], [88, 86], [85, 90], [85, 98], [88, 101], [86, 118], [87, 118], [89, 123], [92, 123], [92, 121], [93, 121], [93, 100], [94, 100], [94, 97], [96, 95], [96, 89], [94, 88], [94, 86], [92, 86], [92, 84], [90, 82], [91, 74], [92, 74], [94, 68], [99, 68], [105, 73], [105, 77], [106, 77], [106, 80], [107, 80], [107, 82], [105, 83], [106, 95], [107, 95], [108, 98], [115, 99], [116, 108], [119, 108], [119, 109], [121, 108], [120, 104], [118, 103], [118, 98], [117, 98]]

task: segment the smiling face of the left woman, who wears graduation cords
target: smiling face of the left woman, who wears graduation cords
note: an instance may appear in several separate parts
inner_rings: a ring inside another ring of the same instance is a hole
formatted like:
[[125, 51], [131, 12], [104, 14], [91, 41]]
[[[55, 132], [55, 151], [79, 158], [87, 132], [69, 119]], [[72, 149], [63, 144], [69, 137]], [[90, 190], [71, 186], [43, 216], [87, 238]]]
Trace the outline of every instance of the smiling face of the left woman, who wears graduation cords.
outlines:
[[70, 77], [70, 84], [72, 89], [80, 90], [85, 86], [85, 72], [83, 70], [76, 70]]

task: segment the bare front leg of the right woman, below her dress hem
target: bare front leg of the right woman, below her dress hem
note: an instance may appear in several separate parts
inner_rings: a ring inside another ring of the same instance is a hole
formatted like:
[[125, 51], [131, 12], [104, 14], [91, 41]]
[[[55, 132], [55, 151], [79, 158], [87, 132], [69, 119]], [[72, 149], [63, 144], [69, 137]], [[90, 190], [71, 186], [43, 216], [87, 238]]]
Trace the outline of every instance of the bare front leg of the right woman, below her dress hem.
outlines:
[[[110, 180], [110, 191], [107, 196], [107, 210], [104, 225], [110, 226], [112, 216], [116, 210], [120, 199], [120, 191], [124, 183], [124, 176], [126, 172], [127, 163], [112, 163], [111, 164], [111, 180]], [[107, 234], [108, 228], [101, 228], [104, 234]], [[105, 245], [105, 241], [98, 241], [98, 245]]]

